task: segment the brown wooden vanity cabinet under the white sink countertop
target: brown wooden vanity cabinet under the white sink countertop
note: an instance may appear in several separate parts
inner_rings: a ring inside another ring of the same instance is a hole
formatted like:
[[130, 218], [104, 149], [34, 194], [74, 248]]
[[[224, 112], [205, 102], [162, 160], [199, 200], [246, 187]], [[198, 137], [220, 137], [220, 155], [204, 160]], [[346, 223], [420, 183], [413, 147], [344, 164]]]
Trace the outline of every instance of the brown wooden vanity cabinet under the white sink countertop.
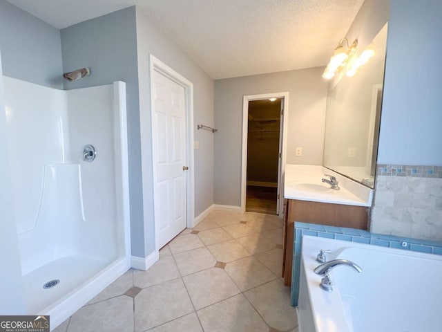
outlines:
[[367, 230], [368, 208], [365, 206], [286, 199], [282, 251], [282, 277], [285, 286], [291, 285], [295, 222]]

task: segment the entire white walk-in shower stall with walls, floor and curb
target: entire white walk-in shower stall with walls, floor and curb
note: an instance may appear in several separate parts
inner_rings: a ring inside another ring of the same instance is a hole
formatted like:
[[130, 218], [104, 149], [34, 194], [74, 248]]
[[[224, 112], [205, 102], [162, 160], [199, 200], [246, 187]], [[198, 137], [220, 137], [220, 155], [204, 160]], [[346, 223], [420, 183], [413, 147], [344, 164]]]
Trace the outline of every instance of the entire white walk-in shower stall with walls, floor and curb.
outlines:
[[16, 314], [50, 315], [54, 327], [129, 268], [126, 87], [2, 80]]

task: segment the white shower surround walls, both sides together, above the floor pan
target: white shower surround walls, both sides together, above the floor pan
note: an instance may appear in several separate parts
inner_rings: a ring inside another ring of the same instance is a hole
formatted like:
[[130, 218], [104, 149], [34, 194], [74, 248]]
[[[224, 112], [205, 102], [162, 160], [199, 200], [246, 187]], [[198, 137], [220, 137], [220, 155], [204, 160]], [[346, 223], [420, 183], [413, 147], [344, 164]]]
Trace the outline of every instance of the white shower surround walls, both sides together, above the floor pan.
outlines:
[[[113, 85], [61, 91], [10, 77], [4, 77], [4, 85], [23, 274], [79, 250], [116, 257], [115, 246], [108, 243], [117, 237]], [[93, 163], [82, 160], [86, 144], [97, 148]], [[48, 165], [56, 166], [49, 171]], [[49, 174], [65, 181], [51, 185]], [[64, 208], [48, 208], [60, 202]], [[53, 219], [58, 220], [52, 223]], [[86, 223], [81, 225], [78, 220]], [[50, 241], [41, 241], [51, 236]], [[40, 250], [45, 252], [44, 258]]]

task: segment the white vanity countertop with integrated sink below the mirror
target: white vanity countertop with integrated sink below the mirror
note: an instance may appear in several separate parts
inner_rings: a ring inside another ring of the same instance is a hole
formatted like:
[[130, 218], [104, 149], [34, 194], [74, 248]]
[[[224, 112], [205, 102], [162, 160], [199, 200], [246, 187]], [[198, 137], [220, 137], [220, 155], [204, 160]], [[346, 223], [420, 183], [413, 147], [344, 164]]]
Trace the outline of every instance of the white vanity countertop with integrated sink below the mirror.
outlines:
[[[321, 180], [324, 174], [335, 176], [340, 190]], [[285, 165], [284, 198], [343, 205], [372, 205], [373, 190], [330, 169], [317, 165]]]

